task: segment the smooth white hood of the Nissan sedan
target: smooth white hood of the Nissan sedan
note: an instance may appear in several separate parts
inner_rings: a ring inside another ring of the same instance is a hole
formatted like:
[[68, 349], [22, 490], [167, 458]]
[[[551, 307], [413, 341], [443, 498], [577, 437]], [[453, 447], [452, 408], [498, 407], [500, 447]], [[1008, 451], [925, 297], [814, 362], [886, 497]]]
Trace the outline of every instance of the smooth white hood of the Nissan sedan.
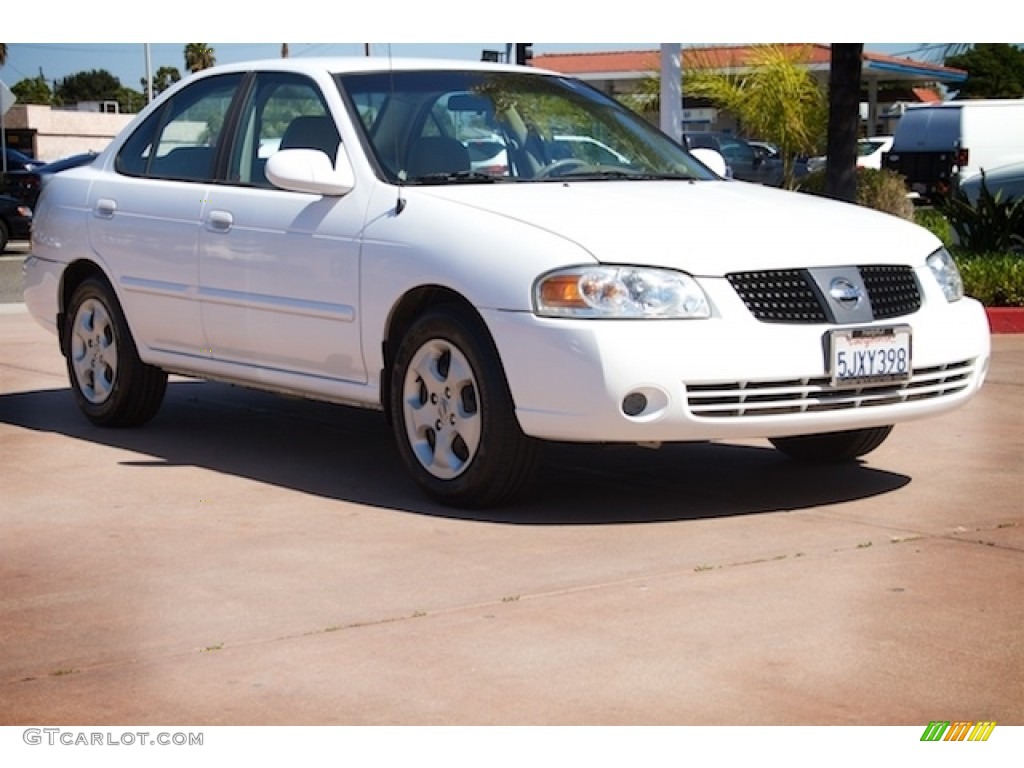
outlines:
[[927, 229], [896, 216], [741, 181], [552, 181], [417, 191], [545, 229], [600, 262], [702, 276], [920, 264], [941, 246]]

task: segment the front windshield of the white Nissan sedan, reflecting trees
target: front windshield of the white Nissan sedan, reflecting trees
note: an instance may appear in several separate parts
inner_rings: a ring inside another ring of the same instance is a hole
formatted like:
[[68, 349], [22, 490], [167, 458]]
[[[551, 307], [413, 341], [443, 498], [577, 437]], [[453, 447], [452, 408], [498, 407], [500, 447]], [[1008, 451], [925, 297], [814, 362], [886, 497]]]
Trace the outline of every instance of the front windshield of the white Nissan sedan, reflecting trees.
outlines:
[[392, 183], [716, 178], [584, 83], [516, 72], [346, 74], [338, 83]]

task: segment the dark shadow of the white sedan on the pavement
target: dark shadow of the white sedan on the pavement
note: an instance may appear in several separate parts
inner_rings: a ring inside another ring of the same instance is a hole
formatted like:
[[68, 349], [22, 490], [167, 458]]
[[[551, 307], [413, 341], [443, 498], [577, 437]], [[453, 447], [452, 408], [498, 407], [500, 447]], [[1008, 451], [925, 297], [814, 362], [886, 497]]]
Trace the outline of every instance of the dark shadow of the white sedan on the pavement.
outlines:
[[802, 465], [767, 442], [763, 447], [680, 443], [656, 451], [554, 443], [545, 445], [537, 482], [521, 502], [457, 510], [419, 492], [376, 411], [172, 381], [160, 413], [138, 429], [93, 426], [68, 389], [0, 395], [0, 423], [141, 455], [112, 458], [112, 472], [191, 466], [325, 499], [508, 524], [640, 523], [788, 511], [887, 494], [910, 481], [863, 463]]

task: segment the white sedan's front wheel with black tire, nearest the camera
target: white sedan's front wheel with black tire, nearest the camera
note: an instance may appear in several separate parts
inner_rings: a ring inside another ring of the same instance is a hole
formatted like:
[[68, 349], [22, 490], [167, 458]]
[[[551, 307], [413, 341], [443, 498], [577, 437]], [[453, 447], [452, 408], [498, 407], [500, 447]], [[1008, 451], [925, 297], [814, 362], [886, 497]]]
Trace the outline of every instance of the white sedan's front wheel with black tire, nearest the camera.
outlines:
[[532, 479], [538, 443], [519, 428], [497, 350], [469, 311], [445, 305], [413, 324], [389, 395], [398, 453], [432, 499], [493, 507]]

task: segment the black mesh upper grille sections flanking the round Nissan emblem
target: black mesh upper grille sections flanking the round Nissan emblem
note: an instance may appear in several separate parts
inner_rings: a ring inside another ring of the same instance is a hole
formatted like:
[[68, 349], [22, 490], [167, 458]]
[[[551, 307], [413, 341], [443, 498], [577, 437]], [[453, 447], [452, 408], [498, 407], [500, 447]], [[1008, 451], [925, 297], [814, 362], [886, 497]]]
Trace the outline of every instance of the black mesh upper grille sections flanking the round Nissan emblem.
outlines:
[[[908, 266], [872, 265], [857, 270], [867, 290], [874, 319], [912, 314], [921, 308], [921, 290]], [[762, 323], [835, 323], [828, 300], [808, 269], [769, 269], [725, 275], [751, 313]]]

